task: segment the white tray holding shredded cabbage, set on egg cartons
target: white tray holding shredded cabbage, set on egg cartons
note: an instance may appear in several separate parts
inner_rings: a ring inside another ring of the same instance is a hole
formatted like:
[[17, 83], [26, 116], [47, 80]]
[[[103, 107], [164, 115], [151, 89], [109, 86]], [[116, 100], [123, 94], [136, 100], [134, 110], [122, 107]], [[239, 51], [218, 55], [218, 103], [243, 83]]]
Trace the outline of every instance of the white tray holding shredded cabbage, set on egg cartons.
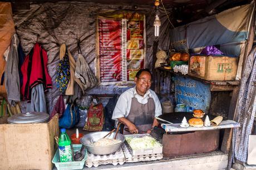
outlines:
[[[144, 137], [144, 136], [150, 136], [150, 134], [127, 134], [125, 135], [125, 138], [132, 137], [132, 138], [138, 138], [138, 137]], [[152, 137], [153, 138], [153, 137]], [[161, 147], [155, 147], [155, 148], [146, 148], [146, 149], [132, 149], [128, 142], [125, 140], [125, 144], [129, 151], [131, 152], [132, 156], [141, 156], [144, 154], [157, 154], [157, 153], [163, 153], [163, 146]]]

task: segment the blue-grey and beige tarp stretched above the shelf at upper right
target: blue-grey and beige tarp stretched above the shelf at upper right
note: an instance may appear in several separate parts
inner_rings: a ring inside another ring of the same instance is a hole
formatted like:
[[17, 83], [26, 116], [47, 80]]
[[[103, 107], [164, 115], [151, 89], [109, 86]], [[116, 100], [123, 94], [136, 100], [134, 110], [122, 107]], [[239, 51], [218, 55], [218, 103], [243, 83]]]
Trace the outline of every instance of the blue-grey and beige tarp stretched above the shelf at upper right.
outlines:
[[214, 16], [171, 30], [174, 49], [194, 49], [219, 45], [225, 55], [239, 57], [236, 79], [241, 78], [243, 57], [247, 44], [254, 2], [223, 11]]

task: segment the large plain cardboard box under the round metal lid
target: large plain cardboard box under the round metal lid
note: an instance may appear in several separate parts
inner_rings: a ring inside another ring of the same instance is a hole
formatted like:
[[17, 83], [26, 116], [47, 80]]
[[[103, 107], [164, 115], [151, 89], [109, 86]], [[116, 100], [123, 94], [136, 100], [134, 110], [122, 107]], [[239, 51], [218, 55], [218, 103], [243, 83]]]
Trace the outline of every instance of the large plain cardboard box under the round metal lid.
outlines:
[[58, 115], [48, 123], [0, 124], [0, 169], [52, 169]]

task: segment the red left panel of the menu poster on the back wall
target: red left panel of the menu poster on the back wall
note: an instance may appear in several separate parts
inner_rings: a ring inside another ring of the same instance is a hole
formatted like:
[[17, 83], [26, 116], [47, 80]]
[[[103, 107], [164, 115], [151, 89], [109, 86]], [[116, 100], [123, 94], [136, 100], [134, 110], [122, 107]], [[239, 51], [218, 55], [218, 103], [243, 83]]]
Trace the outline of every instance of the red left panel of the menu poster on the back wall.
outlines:
[[121, 22], [99, 18], [100, 82], [122, 81]]

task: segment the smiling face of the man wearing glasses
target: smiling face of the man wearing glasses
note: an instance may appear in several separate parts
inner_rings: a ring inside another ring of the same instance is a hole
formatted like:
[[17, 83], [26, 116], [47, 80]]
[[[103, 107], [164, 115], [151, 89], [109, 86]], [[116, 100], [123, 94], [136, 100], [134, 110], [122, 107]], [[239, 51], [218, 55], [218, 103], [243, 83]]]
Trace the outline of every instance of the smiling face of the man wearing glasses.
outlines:
[[149, 72], [141, 72], [140, 77], [135, 77], [136, 91], [140, 96], [144, 96], [151, 86], [151, 75]]

